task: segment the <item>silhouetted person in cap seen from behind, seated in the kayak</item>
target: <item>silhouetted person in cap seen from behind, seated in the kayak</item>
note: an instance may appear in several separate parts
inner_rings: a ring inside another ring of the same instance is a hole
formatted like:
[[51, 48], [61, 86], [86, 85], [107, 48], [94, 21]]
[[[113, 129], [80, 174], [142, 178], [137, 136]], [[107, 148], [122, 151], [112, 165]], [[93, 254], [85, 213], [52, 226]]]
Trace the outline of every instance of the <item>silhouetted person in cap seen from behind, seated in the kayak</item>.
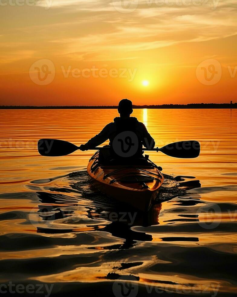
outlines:
[[[138, 122], [137, 118], [130, 117], [132, 112], [132, 102], [128, 99], [122, 99], [118, 104], [118, 113], [120, 114], [120, 117], [114, 118], [114, 122], [106, 125], [99, 134], [91, 138], [88, 142], [86, 142], [86, 144], [81, 145], [80, 149], [85, 151], [90, 148], [94, 148], [109, 139], [109, 146], [111, 148], [110, 153], [114, 159], [118, 159], [119, 156], [116, 155], [114, 153], [114, 149], [112, 149], [114, 147], [113, 144], [114, 140], [116, 140], [116, 136], [122, 135], [121, 138], [125, 139], [125, 144], [131, 143], [131, 145], [134, 145], [134, 143], [132, 143], [133, 139], [129, 140], [129, 138], [130, 135], [134, 135], [135, 133], [135, 137], [138, 141], [135, 141], [136, 152], [133, 154], [132, 158], [141, 158], [143, 153], [142, 146], [144, 145], [146, 148], [153, 149], [155, 142], [148, 133], [145, 125], [141, 122]], [[128, 136], [126, 137], [126, 135]], [[118, 139], [118, 141], [122, 140]], [[121, 145], [123, 144], [121, 143]]]

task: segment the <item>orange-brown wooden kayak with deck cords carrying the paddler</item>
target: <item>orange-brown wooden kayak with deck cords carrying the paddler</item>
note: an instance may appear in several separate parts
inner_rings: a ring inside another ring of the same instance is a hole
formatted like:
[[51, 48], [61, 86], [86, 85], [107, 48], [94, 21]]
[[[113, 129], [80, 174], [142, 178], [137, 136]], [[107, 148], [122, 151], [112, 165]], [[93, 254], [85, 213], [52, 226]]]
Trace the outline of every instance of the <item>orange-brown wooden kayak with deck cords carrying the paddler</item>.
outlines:
[[100, 165], [98, 157], [96, 152], [87, 166], [92, 184], [123, 204], [147, 211], [164, 181], [159, 167], [150, 160], [145, 165]]

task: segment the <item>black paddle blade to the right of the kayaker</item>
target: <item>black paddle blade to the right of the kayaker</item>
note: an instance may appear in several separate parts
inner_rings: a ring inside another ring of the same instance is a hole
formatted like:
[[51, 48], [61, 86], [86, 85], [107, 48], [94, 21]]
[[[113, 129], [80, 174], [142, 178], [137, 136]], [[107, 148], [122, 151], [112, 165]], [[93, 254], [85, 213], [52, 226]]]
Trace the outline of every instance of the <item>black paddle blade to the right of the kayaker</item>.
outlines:
[[159, 151], [175, 158], [196, 158], [200, 154], [200, 143], [196, 140], [178, 141], [163, 146]]

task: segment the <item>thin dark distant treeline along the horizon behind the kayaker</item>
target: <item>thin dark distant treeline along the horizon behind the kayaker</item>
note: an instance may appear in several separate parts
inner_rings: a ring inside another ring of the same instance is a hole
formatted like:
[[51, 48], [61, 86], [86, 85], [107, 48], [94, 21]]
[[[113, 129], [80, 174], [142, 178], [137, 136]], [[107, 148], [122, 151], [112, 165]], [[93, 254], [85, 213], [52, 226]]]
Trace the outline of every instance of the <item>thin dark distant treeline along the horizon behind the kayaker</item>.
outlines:
[[[0, 106], [0, 109], [112, 109], [118, 106]], [[237, 103], [190, 103], [162, 105], [133, 105], [133, 108], [237, 108]]]

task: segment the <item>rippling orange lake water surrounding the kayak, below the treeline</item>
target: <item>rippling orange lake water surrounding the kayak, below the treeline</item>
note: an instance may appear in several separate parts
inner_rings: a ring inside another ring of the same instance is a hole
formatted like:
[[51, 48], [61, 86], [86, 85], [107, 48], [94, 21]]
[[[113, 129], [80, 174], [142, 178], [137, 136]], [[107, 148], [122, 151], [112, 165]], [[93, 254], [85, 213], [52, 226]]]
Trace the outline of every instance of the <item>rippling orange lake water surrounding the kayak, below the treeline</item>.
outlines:
[[51, 295], [118, 297], [125, 281], [114, 279], [131, 275], [130, 294], [123, 287], [130, 297], [235, 295], [236, 110], [137, 109], [133, 115], [158, 147], [201, 143], [197, 159], [150, 154], [164, 173], [193, 176], [201, 187], [124, 221], [125, 210], [116, 212], [116, 202], [88, 183], [91, 151], [57, 158], [37, 153], [39, 138], [85, 143], [116, 110], [0, 110], [0, 284], [44, 285], [37, 296], [53, 284]]

